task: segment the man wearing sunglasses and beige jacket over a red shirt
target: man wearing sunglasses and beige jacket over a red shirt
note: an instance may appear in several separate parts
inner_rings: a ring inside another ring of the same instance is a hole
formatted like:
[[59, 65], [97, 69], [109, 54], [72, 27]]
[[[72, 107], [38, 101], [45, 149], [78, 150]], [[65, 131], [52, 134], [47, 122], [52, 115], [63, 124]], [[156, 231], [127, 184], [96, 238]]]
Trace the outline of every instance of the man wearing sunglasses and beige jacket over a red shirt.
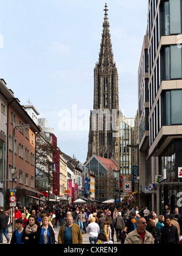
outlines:
[[135, 223], [136, 229], [126, 236], [124, 244], [154, 244], [153, 236], [146, 230], [146, 219], [137, 218]]

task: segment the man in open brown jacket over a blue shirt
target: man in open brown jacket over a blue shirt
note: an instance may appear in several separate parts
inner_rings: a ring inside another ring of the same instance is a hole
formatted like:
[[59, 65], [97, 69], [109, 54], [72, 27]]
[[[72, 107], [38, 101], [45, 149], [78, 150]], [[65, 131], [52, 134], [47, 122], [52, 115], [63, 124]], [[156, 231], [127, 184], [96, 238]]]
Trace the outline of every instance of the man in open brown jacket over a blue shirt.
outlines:
[[59, 229], [58, 244], [82, 244], [83, 237], [79, 226], [73, 223], [73, 217], [67, 217], [67, 223]]

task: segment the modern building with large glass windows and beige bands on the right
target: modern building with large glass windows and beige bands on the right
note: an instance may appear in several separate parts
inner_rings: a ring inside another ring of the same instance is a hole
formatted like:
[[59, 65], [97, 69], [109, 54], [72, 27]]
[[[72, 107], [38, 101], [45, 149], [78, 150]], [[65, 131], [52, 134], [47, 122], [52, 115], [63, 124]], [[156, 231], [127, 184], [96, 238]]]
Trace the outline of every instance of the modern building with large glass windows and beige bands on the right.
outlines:
[[[156, 185], [148, 202], [157, 214], [162, 213], [164, 205], [169, 205], [173, 212], [178, 193], [182, 191], [178, 172], [182, 168], [181, 21], [181, 0], [149, 0], [148, 26], [138, 73], [140, 164], [145, 162], [140, 176], [145, 177], [146, 186]], [[142, 60], [148, 63], [143, 73]]]

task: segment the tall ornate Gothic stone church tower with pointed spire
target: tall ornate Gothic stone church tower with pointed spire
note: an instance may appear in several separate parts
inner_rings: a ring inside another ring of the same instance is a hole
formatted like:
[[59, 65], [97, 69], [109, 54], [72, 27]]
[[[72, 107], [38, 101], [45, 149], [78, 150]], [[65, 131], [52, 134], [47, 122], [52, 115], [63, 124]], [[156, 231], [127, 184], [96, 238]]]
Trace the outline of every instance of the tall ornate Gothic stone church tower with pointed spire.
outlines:
[[93, 154], [118, 159], [118, 71], [113, 60], [107, 4], [99, 62], [94, 69], [94, 99], [90, 114], [90, 132], [87, 160]]

